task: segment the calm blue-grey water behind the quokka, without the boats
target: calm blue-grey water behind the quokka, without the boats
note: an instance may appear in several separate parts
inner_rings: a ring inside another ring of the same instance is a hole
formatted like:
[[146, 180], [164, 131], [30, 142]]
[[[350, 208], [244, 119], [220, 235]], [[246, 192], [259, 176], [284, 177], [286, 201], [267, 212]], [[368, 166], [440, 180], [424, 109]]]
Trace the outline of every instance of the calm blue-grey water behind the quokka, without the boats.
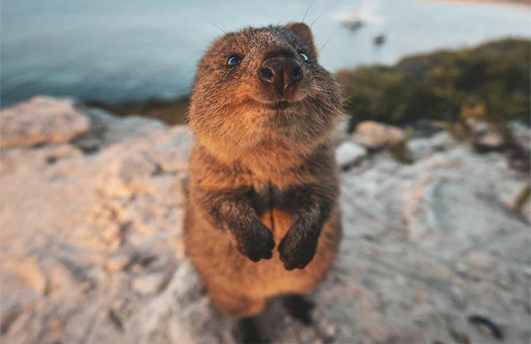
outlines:
[[[390, 64], [435, 48], [530, 36], [530, 9], [438, 1], [312, 1], [321, 64]], [[188, 94], [207, 43], [243, 26], [300, 21], [310, 1], [1, 0], [1, 106], [35, 94], [108, 102]], [[357, 8], [367, 25], [343, 28]], [[213, 24], [215, 23], [215, 25]], [[372, 43], [385, 33], [382, 46]]]

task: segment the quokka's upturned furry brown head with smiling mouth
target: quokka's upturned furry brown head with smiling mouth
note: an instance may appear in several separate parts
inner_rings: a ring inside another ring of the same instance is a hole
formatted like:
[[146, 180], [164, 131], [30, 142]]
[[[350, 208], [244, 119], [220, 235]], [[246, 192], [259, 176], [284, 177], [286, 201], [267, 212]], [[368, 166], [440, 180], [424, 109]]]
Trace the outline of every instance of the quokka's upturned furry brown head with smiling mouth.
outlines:
[[341, 116], [333, 76], [304, 23], [244, 28], [215, 40], [198, 66], [189, 123], [215, 149], [312, 146]]

